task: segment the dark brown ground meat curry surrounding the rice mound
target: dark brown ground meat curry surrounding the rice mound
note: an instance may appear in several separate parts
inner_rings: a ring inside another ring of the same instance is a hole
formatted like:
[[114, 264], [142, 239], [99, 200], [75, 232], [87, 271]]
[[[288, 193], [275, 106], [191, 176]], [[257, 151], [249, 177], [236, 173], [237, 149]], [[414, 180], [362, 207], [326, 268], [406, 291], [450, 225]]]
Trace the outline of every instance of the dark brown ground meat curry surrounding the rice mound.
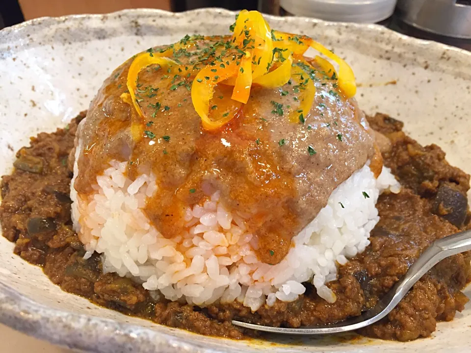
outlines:
[[[67, 157], [74, 145], [80, 114], [65, 129], [40, 133], [17, 153], [15, 171], [1, 180], [0, 222], [3, 236], [15, 242], [16, 254], [43, 266], [63, 290], [122, 313], [206, 335], [244, 338], [254, 332], [237, 328], [232, 319], [274, 326], [299, 327], [341, 321], [372, 307], [402, 277], [434, 240], [470, 225], [467, 191], [470, 176], [450, 166], [436, 145], [420, 146], [402, 132], [402, 123], [386, 115], [368, 118], [380, 132], [386, 166], [402, 191], [383, 194], [377, 203], [379, 223], [366, 251], [339, 269], [328, 286], [335, 303], [307, 291], [292, 303], [262, 306], [256, 313], [241, 303], [199, 308], [155, 300], [129, 278], [103, 274], [100, 257], [84, 260], [72, 229], [68, 196], [72, 173]], [[452, 320], [468, 301], [461, 289], [470, 279], [470, 253], [443, 260], [422, 277], [381, 322], [360, 333], [400, 341], [429, 336], [437, 321]]]

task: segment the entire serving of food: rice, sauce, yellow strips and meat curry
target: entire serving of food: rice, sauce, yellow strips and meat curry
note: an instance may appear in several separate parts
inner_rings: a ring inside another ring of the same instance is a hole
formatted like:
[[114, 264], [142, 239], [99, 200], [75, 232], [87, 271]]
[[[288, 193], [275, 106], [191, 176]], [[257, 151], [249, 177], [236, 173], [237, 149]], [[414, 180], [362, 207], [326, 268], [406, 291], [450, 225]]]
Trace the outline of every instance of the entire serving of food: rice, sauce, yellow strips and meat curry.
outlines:
[[[87, 112], [31, 138], [2, 177], [2, 234], [63, 290], [201, 334], [360, 315], [469, 228], [470, 176], [366, 116], [351, 68], [313, 39], [256, 11], [231, 30], [134, 55]], [[443, 260], [361, 333], [429, 336], [469, 277], [469, 253]]]

